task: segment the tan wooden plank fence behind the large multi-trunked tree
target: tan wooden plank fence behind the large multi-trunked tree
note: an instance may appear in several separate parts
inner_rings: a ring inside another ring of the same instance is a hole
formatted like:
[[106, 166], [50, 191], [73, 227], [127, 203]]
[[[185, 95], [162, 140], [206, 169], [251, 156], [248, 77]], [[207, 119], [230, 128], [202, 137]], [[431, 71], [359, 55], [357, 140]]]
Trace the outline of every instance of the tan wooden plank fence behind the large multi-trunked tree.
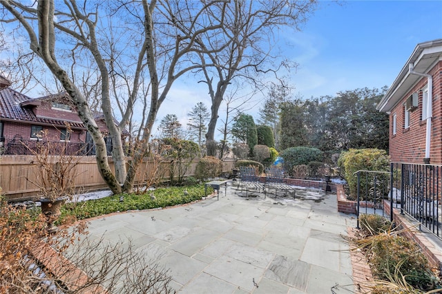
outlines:
[[[97, 189], [106, 189], [106, 183], [99, 174], [95, 156], [79, 156], [79, 165], [77, 165], [77, 177], [75, 186], [77, 191], [93, 191]], [[37, 195], [39, 187], [34, 183], [38, 182], [37, 166], [35, 165], [35, 156], [29, 155], [3, 155], [0, 156], [0, 187], [3, 196], [8, 200], [30, 199]], [[113, 169], [113, 160], [109, 160]], [[193, 160], [185, 176], [194, 176], [198, 159]], [[229, 172], [233, 169], [233, 160], [224, 160], [222, 162], [222, 171]], [[155, 165], [155, 162], [143, 162], [135, 178], [135, 184], [142, 185], [146, 182], [146, 177], [155, 174], [155, 171], [162, 171], [156, 174], [164, 179], [170, 178], [169, 162], [161, 162]], [[175, 174], [175, 177], [177, 174]]]

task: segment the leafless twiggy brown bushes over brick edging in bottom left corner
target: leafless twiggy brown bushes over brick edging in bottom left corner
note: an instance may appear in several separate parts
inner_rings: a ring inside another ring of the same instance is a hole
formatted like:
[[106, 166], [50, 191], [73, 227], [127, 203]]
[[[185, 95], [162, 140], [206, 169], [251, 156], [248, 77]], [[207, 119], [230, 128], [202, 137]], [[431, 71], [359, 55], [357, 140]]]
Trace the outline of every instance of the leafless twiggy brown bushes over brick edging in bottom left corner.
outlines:
[[52, 235], [38, 211], [0, 206], [0, 293], [172, 293], [168, 271], [131, 241], [90, 238], [86, 222]]

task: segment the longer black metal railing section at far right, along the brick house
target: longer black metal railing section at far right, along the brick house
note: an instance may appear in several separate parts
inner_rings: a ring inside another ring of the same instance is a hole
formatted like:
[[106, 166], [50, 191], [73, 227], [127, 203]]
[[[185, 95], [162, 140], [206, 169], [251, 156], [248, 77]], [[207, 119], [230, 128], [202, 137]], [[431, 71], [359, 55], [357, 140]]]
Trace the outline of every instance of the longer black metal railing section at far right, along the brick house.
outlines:
[[401, 209], [442, 238], [441, 225], [441, 166], [394, 162], [391, 164], [390, 186], [392, 207]]

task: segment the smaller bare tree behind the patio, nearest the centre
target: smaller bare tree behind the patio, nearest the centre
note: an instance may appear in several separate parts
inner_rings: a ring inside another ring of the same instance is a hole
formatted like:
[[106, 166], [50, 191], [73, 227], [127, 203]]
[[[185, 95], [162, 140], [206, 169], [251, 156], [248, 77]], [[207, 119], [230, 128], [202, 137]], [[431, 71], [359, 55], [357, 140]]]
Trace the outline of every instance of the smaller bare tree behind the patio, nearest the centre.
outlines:
[[[204, 54], [198, 54], [203, 82], [209, 88], [212, 102], [207, 140], [213, 140], [218, 109], [233, 80], [240, 78], [253, 87], [262, 87], [260, 76], [267, 73], [276, 76], [281, 67], [296, 66], [275, 53], [276, 37], [273, 33], [282, 27], [299, 29], [315, 8], [316, 1], [298, 0], [229, 1], [225, 15], [220, 14], [217, 5], [209, 8], [209, 18], [222, 17], [224, 25], [222, 36], [215, 39], [206, 36], [197, 40], [202, 48], [209, 48]], [[232, 42], [222, 51], [211, 53], [211, 48], [218, 46], [222, 38]]]

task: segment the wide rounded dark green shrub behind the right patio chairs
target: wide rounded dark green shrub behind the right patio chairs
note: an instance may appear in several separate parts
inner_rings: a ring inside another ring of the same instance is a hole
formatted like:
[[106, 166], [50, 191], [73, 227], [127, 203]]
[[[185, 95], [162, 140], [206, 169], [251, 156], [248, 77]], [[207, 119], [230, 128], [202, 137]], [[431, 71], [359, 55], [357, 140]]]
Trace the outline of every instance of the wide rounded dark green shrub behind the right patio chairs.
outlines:
[[283, 150], [280, 156], [284, 159], [283, 167], [293, 176], [293, 168], [296, 165], [308, 165], [311, 161], [323, 159], [323, 152], [317, 148], [310, 147], [290, 147]]

